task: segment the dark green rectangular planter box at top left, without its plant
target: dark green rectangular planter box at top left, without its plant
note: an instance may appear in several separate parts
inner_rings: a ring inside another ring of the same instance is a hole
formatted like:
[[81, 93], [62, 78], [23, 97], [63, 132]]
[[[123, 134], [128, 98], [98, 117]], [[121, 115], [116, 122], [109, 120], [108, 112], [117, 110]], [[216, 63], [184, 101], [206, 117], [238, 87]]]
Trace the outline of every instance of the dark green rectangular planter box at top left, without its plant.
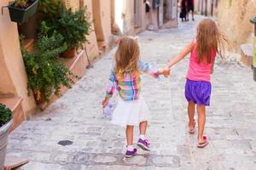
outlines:
[[33, 14], [37, 12], [38, 8], [38, 1], [34, 1], [29, 7], [27, 8], [16, 8], [15, 3], [9, 4], [9, 16], [10, 19], [14, 22], [24, 23], [28, 20]]

